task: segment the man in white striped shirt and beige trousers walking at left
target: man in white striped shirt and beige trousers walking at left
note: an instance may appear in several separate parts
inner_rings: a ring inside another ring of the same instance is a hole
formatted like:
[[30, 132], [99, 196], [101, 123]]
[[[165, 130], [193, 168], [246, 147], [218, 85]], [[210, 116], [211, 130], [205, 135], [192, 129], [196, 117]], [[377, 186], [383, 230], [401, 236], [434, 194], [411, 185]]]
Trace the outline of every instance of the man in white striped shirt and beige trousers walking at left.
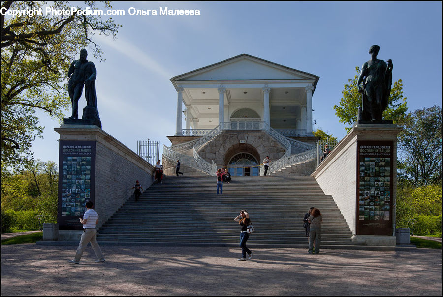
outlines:
[[83, 219], [80, 217], [80, 223], [83, 224], [83, 234], [80, 239], [80, 244], [78, 245], [77, 252], [75, 254], [74, 260], [69, 261], [70, 263], [79, 264], [82, 258], [85, 248], [88, 243], [91, 242], [91, 246], [97, 256], [95, 262], [104, 262], [105, 259], [101, 252], [100, 246], [97, 242], [97, 230], [95, 225], [98, 223], [98, 214], [93, 210], [94, 204], [91, 201], [86, 202], [86, 208], [88, 209], [83, 215]]

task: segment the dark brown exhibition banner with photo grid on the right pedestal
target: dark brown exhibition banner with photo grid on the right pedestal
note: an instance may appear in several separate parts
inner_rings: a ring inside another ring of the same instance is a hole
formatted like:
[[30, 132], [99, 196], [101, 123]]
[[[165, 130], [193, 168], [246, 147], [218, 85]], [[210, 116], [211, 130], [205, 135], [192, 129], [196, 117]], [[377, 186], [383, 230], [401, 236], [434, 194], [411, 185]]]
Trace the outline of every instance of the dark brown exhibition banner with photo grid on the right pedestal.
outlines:
[[392, 235], [393, 141], [357, 142], [357, 234]]

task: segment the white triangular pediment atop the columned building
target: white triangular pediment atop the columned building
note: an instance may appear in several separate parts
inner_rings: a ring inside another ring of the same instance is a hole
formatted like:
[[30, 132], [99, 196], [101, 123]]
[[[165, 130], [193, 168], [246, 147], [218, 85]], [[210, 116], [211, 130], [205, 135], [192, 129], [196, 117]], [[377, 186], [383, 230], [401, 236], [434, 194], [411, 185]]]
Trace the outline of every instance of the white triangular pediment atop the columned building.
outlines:
[[303, 71], [269, 62], [248, 54], [212, 64], [176, 76], [171, 81], [224, 81], [224, 80], [318, 80]]

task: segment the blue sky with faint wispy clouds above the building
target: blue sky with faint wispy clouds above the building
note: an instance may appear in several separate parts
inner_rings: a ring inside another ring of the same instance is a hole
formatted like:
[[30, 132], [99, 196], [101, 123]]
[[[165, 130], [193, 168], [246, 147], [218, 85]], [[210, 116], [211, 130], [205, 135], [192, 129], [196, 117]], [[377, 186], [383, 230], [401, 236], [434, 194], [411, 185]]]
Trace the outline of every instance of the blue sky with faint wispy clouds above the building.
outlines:
[[[243, 53], [318, 76], [315, 129], [339, 140], [347, 126], [333, 107], [374, 44], [379, 59], [392, 59], [393, 82], [403, 81], [409, 111], [442, 106], [440, 1], [111, 3], [125, 10], [113, 17], [123, 27], [115, 40], [95, 35], [106, 60], [92, 54], [88, 60], [97, 68], [102, 129], [135, 152], [137, 141], [148, 138], [171, 145], [166, 136], [175, 134], [177, 113], [172, 77]], [[137, 16], [129, 15], [130, 7], [158, 14], [160, 7], [198, 9], [200, 15]], [[83, 95], [80, 113], [85, 105]], [[34, 141], [34, 158], [58, 162], [54, 127], [60, 123], [41, 114], [41, 124], [44, 138]]]

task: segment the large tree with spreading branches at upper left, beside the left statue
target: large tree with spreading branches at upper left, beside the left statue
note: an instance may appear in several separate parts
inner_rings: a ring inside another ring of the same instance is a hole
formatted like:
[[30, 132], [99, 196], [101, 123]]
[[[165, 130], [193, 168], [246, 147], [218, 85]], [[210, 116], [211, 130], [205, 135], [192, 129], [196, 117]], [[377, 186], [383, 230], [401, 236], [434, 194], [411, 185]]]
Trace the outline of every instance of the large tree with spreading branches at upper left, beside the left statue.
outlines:
[[[111, 8], [109, 2], [85, 2], [77, 9]], [[1, 161], [20, 166], [32, 160], [31, 145], [43, 128], [35, 112], [42, 110], [62, 119], [70, 106], [65, 77], [81, 48], [90, 47], [102, 60], [93, 41], [95, 33], [115, 38], [118, 28], [112, 18], [99, 15], [45, 14], [47, 2], [1, 2]], [[54, 10], [71, 10], [72, 2], [54, 1]], [[42, 15], [11, 16], [12, 11], [42, 9]], [[8, 16], [5, 18], [5, 15]]]

